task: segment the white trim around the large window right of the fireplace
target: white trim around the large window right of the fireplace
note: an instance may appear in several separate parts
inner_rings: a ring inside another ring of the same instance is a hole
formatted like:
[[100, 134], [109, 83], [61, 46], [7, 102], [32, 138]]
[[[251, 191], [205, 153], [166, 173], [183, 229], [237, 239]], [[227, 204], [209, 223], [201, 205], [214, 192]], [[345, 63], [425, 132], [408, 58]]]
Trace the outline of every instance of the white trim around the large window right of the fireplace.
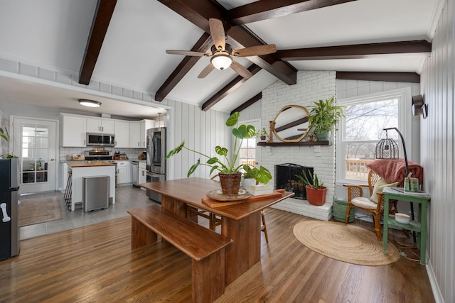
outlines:
[[[402, 89], [394, 89], [385, 92], [378, 92], [375, 94], [366, 94], [362, 96], [356, 96], [346, 99], [338, 99], [337, 105], [341, 106], [349, 106], [354, 104], [364, 103], [365, 101], [380, 101], [383, 99], [399, 99], [398, 101], [398, 126], [397, 127], [403, 135], [406, 144], [406, 153], [407, 159], [409, 160], [412, 158], [412, 93], [410, 87], [405, 87]], [[338, 131], [336, 132], [336, 146], [341, 146], [342, 144], [342, 136], [344, 136], [344, 128], [345, 128], [345, 120], [342, 119], [341, 123], [339, 124]], [[395, 131], [394, 131], [395, 132]], [[395, 132], [396, 133], [396, 132]], [[397, 134], [398, 136], [398, 134]], [[402, 150], [402, 143], [400, 136], [398, 136], [397, 143], [400, 146], [400, 158], [404, 157], [404, 153]], [[365, 141], [367, 142], [367, 141]], [[341, 149], [340, 149], [341, 150]], [[336, 167], [344, 167], [344, 153], [336, 153]], [[338, 168], [336, 169], [336, 184], [364, 184], [365, 181], [358, 181], [358, 180], [346, 180], [344, 174], [344, 169]]]

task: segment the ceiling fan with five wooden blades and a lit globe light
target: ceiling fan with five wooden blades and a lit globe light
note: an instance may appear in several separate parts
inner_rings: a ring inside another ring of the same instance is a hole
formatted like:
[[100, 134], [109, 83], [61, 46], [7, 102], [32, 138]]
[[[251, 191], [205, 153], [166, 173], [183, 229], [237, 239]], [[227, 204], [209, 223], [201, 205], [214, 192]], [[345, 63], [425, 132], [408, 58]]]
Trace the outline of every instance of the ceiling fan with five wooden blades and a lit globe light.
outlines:
[[223, 28], [223, 22], [215, 18], [210, 18], [208, 19], [208, 23], [210, 26], [210, 35], [212, 36], [214, 43], [210, 49], [211, 53], [194, 52], [190, 50], [166, 50], [166, 53], [172, 55], [212, 57], [210, 59], [210, 64], [205, 67], [202, 72], [200, 72], [198, 78], [206, 77], [215, 68], [218, 70], [225, 70], [228, 67], [232, 67], [232, 70], [237, 72], [237, 74], [244, 77], [245, 79], [250, 79], [250, 77], [252, 77], [252, 73], [243, 65], [240, 65], [239, 63], [232, 60], [232, 56], [260, 56], [275, 53], [277, 51], [277, 46], [274, 44], [257, 45], [250, 48], [232, 50], [232, 46], [226, 43], [226, 35], [225, 29]]

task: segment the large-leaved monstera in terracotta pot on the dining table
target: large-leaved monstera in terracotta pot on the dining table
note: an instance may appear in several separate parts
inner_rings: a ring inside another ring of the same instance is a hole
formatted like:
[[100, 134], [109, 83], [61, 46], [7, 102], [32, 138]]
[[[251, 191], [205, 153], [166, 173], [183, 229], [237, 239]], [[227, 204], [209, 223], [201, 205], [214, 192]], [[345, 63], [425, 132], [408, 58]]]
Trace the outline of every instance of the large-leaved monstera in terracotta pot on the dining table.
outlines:
[[251, 168], [249, 165], [237, 165], [237, 158], [240, 153], [242, 141], [244, 139], [254, 138], [256, 136], [255, 126], [245, 124], [237, 126], [239, 116], [240, 114], [238, 112], [235, 112], [228, 118], [225, 123], [226, 126], [232, 127], [232, 135], [234, 136], [234, 150], [230, 158], [228, 158], [228, 148], [224, 148], [219, 145], [215, 147], [215, 153], [221, 157], [220, 159], [218, 157], [210, 157], [208, 155], [200, 153], [197, 150], [188, 148], [185, 146], [185, 141], [183, 141], [180, 145], [178, 145], [178, 147], [174, 148], [168, 153], [168, 155], [166, 155], [166, 159], [171, 158], [171, 156], [176, 155], [177, 153], [180, 153], [183, 148], [203, 156], [207, 160], [205, 162], [201, 162], [199, 158], [195, 164], [191, 165], [190, 169], [188, 170], [187, 177], [190, 177], [193, 172], [196, 171], [199, 165], [211, 167], [210, 174], [213, 172], [218, 172], [223, 194], [238, 194], [240, 189], [240, 180], [242, 178], [241, 170], [245, 170], [245, 172], [251, 172], [253, 179], [255, 179], [257, 182], [269, 182], [272, 180], [272, 175], [270, 174], [269, 170], [267, 170], [267, 168], [262, 166], [259, 168]]

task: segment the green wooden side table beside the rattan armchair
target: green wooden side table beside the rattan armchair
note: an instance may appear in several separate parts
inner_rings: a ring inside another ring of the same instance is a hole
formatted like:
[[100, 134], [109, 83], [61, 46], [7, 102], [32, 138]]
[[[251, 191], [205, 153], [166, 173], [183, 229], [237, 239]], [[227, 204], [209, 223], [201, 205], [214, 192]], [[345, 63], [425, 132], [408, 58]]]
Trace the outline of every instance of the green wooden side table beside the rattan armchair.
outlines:
[[[382, 250], [387, 252], [387, 236], [389, 225], [415, 231], [417, 236], [417, 248], [420, 250], [420, 264], [425, 265], [427, 253], [427, 205], [430, 197], [427, 193], [404, 192], [404, 189], [397, 187], [384, 187], [384, 235], [382, 237]], [[410, 224], [400, 224], [395, 217], [389, 216], [389, 200], [414, 202], [419, 204], [418, 221], [410, 221]]]

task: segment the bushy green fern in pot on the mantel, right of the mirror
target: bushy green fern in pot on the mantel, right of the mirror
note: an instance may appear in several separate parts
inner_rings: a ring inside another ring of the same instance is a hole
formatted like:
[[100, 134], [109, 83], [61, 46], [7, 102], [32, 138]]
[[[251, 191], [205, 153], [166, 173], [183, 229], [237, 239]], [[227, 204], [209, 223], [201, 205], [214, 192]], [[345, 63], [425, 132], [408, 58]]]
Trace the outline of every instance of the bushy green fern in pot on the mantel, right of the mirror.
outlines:
[[311, 129], [318, 141], [328, 141], [331, 137], [333, 127], [344, 116], [344, 106], [335, 105], [335, 97], [314, 102], [314, 106], [309, 106], [310, 115], [308, 121], [311, 122]]

